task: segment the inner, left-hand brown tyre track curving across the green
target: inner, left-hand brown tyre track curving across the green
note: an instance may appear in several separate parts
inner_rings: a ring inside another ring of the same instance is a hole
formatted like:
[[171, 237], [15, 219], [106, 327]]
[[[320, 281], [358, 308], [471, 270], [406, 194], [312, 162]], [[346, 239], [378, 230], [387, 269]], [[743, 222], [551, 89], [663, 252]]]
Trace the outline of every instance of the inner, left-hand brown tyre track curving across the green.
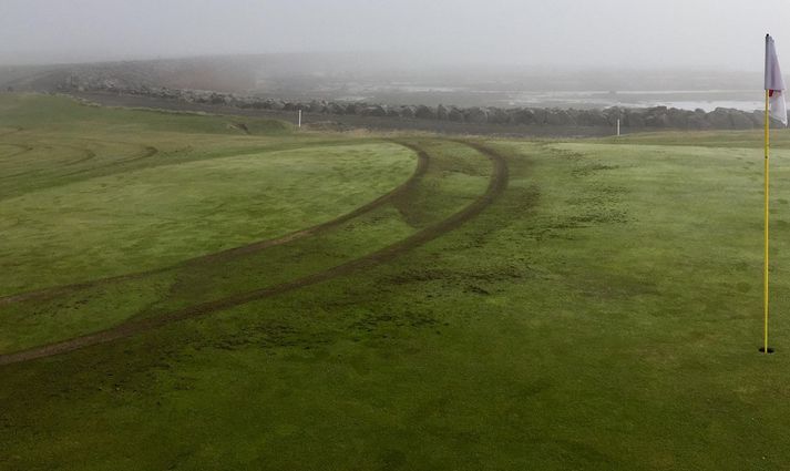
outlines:
[[[300, 239], [304, 237], [308, 237], [314, 234], [319, 234], [319, 233], [328, 231], [332, 227], [339, 226], [355, 217], [358, 217], [365, 213], [373, 211], [373, 209], [387, 204], [392, 198], [396, 198], [396, 197], [400, 196], [401, 194], [408, 192], [422, 177], [422, 175], [428, 170], [428, 154], [425, 154], [425, 152], [423, 152], [421, 149], [418, 149], [414, 145], [411, 145], [411, 144], [408, 144], [404, 142], [399, 142], [399, 141], [392, 141], [392, 142], [403, 145], [406, 147], [409, 147], [417, 153], [418, 162], [417, 162], [417, 167], [414, 168], [414, 172], [411, 174], [409, 180], [403, 182], [397, 188], [379, 196], [378, 198], [373, 199], [372, 202], [370, 202], [363, 206], [360, 206], [360, 207], [353, 209], [352, 212], [347, 213], [340, 217], [337, 217], [337, 218], [328, 221], [326, 223], [321, 223], [319, 225], [309, 227], [307, 229], [301, 229], [301, 231], [297, 231], [295, 233], [287, 234], [285, 236], [278, 237], [278, 238], [256, 242], [256, 243], [245, 245], [242, 247], [234, 247], [234, 248], [229, 248], [227, 250], [222, 250], [222, 252], [217, 252], [217, 253], [213, 253], [213, 254], [208, 254], [208, 255], [202, 255], [199, 257], [179, 262], [176, 265], [171, 265], [171, 266], [166, 266], [166, 267], [154, 268], [154, 269], [143, 270], [143, 272], [135, 272], [135, 273], [130, 273], [130, 274], [124, 274], [124, 275], [111, 276], [111, 277], [106, 277], [106, 278], [92, 279], [90, 281], [84, 281], [84, 283], [75, 283], [75, 284], [70, 284], [70, 285], [54, 286], [51, 288], [44, 288], [44, 289], [40, 289], [40, 290], [35, 290], [35, 291], [3, 296], [3, 297], [0, 297], [0, 306], [8, 306], [8, 305], [17, 304], [17, 303], [29, 301], [29, 300], [51, 299], [59, 295], [63, 295], [66, 293], [73, 293], [73, 291], [78, 291], [81, 289], [86, 289], [86, 288], [91, 288], [91, 287], [95, 287], [95, 286], [103, 286], [103, 285], [112, 284], [112, 283], [120, 283], [120, 281], [127, 281], [127, 280], [145, 278], [147, 276], [164, 273], [170, 269], [177, 268], [177, 267], [184, 267], [184, 266], [191, 266], [191, 265], [204, 265], [204, 264], [212, 263], [212, 262], [228, 260], [228, 259], [233, 259], [235, 257], [239, 257], [239, 256], [243, 256], [246, 254], [252, 254], [252, 253], [256, 253], [259, 250], [264, 250], [269, 247], [283, 245], [283, 244], [289, 243], [291, 240], [297, 240], [297, 239]], [[148, 147], [148, 152], [146, 152], [145, 156], [155, 155], [156, 152], [157, 151], [155, 147]], [[143, 156], [143, 157], [145, 157], [145, 156]], [[137, 158], [143, 158], [143, 157], [137, 157]]]

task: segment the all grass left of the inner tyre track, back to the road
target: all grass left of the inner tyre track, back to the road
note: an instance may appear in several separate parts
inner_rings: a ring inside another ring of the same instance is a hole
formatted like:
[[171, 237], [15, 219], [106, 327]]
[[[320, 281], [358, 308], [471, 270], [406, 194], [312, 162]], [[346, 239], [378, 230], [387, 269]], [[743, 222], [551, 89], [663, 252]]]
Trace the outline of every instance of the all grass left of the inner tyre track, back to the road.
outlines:
[[[393, 143], [307, 142], [279, 150], [277, 143], [295, 137], [264, 135], [245, 137], [242, 147], [237, 130], [220, 133], [229, 122], [222, 116], [109, 111], [42, 96], [0, 95], [4, 102], [27, 113], [2, 119], [28, 127], [0, 136], [0, 152], [30, 152], [0, 154], [9, 182], [0, 193], [19, 193], [0, 196], [0, 295], [160, 268], [281, 236], [376, 198], [414, 166], [412, 152]], [[50, 109], [49, 121], [31, 125], [40, 117], [33, 111]], [[65, 132], [61, 122], [73, 129]], [[189, 133], [162, 134], [163, 127]], [[206, 155], [202, 142], [208, 140], [193, 133], [209, 130], [220, 134]], [[122, 142], [129, 132], [150, 140]], [[25, 187], [37, 177], [38, 188]]]

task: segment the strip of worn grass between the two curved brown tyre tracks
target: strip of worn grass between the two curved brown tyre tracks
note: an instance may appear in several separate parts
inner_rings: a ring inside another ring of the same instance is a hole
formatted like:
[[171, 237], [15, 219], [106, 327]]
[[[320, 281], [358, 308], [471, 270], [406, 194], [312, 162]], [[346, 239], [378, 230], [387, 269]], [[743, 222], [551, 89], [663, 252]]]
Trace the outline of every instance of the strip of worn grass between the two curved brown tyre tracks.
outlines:
[[[0, 354], [90, 334], [130, 318], [167, 315], [330, 269], [451, 216], [484, 192], [491, 172], [486, 158], [456, 143], [428, 141], [423, 146], [431, 155], [430, 166], [408, 193], [330, 231], [244, 256], [176, 265], [142, 278], [12, 303], [0, 316]], [[455, 160], [472, 162], [455, 165]], [[265, 221], [271, 217], [276, 215]]]

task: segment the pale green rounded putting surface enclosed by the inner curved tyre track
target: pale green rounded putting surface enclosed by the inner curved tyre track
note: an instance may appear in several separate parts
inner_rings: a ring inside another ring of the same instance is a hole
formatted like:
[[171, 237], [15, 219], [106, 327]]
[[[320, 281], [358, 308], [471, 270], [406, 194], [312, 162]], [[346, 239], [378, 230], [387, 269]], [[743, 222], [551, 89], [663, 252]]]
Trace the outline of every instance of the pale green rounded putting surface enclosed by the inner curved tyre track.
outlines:
[[361, 206], [407, 180], [413, 165], [411, 151], [391, 143], [315, 146], [145, 168], [0, 201], [0, 293], [275, 238]]

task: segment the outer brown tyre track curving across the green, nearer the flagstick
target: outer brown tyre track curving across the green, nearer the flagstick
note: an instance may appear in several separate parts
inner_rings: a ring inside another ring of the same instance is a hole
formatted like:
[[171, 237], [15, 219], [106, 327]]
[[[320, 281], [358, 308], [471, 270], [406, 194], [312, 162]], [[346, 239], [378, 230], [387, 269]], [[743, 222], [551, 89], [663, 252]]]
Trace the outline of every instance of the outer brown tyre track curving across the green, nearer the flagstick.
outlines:
[[[129, 321], [116, 327], [102, 330], [95, 334], [90, 334], [82, 337], [76, 337], [70, 340], [60, 341], [43, 347], [37, 347], [29, 350], [0, 355], [0, 365], [11, 365], [19, 364], [22, 361], [34, 360], [39, 358], [51, 357], [60, 354], [65, 354], [69, 351], [74, 351], [81, 348], [107, 344], [122, 338], [131, 337], [136, 334], [153, 330], [155, 328], [166, 326], [168, 324], [204, 316], [218, 310], [228, 309], [232, 307], [240, 306], [250, 301], [265, 299], [271, 296], [276, 296], [283, 293], [287, 293], [297, 288], [315, 285], [317, 283], [326, 281], [332, 278], [337, 278], [356, 270], [371, 267], [380, 263], [391, 260], [398, 257], [400, 254], [411, 250], [412, 248], [419, 247], [430, 240], [438, 238], [439, 236], [447, 234], [456, 227], [461, 226], [463, 223], [472, 219], [479, 215], [483, 209], [485, 209], [494, 199], [506, 188], [507, 186], [507, 165], [504, 157], [496, 151], [483, 146], [481, 144], [465, 143], [471, 147], [478, 150], [483, 155], [489, 157], [493, 163], [493, 174], [489, 182], [489, 186], [483, 195], [475, 199], [472, 204], [450, 216], [449, 218], [428, 227], [419, 233], [407, 237], [406, 239], [382, 248], [378, 252], [369, 254], [365, 257], [358, 258], [356, 260], [348, 262], [346, 264], [338, 265], [325, 272], [320, 272], [314, 275], [306, 276], [293, 281], [284, 283], [278, 286], [256, 289], [248, 293], [242, 293], [238, 295], [229, 296], [223, 299], [217, 299], [209, 303], [203, 303], [196, 306], [187, 307], [168, 315], [164, 315], [155, 318], [140, 319]], [[422, 151], [420, 151], [422, 152]], [[423, 153], [424, 155], [424, 153]]]

